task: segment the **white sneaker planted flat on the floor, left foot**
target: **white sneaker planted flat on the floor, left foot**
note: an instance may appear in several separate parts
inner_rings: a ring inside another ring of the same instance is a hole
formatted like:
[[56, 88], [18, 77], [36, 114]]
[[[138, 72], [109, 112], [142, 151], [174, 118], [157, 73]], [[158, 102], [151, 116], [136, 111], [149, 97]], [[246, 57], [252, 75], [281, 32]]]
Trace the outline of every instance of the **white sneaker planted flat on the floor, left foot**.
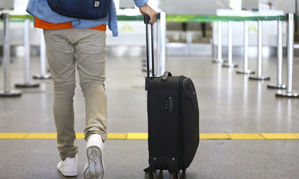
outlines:
[[57, 169], [64, 176], [77, 176], [78, 175], [78, 157], [77, 154], [75, 157], [66, 157], [65, 160], [61, 160]]

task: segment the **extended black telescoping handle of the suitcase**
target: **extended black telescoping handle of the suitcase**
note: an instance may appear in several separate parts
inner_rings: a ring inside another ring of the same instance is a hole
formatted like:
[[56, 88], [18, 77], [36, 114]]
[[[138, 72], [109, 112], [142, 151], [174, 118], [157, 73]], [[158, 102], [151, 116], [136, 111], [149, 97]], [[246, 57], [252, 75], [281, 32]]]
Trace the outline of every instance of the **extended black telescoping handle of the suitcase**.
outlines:
[[[147, 77], [149, 77], [149, 37], [148, 37], [148, 23], [149, 15], [144, 16], [144, 24], [146, 25], [146, 38], [147, 38]], [[151, 24], [151, 37], [152, 37], [152, 76], [155, 76], [154, 72], [154, 31], [153, 25]]]

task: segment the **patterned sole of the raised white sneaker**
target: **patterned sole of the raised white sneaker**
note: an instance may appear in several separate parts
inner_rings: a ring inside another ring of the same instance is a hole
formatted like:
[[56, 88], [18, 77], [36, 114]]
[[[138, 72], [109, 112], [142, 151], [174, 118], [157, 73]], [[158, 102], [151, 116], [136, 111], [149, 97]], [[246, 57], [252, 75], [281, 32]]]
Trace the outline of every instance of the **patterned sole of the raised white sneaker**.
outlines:
[[97, 146], [91, 146], [86, 150], [88, 167], [84, 171], [85, 179], [102, 179], [104, 176], [102, 151]]

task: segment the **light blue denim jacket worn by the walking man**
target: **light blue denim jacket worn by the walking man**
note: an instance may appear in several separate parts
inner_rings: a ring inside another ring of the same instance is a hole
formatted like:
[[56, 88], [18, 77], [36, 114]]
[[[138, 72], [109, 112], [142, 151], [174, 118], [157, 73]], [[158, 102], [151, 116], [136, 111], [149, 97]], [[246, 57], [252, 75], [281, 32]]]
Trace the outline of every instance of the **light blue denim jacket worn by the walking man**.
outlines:
[[[137, 7], [142, 7], [147, 4], [148, 0], [134, 0], [134, 2]], [[86, 29], [105, 24], [108, 25], [108, 28], [112, 31], [114, 37], [118, 36], [117, 15], [113, 0], [111, 1], [109, 14], [104, 19], [78, 19], [62, 16], [50, 9], [47, 0], [29, 0], [26, 11], [33, 17], [54, 24], [72, 22], [73, 27], [77, 29]]]

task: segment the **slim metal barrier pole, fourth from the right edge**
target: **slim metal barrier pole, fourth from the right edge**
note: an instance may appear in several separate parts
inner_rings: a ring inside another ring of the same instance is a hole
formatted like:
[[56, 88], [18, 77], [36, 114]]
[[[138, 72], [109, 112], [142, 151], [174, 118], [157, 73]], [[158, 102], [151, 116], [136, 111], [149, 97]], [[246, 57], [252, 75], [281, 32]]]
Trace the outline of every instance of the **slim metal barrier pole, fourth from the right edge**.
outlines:
[[248, 70], [248, 21], [244, 21], [244, 64], [243, 70], [238, 70], [237, 74], [254, 74], [254, 71]]

